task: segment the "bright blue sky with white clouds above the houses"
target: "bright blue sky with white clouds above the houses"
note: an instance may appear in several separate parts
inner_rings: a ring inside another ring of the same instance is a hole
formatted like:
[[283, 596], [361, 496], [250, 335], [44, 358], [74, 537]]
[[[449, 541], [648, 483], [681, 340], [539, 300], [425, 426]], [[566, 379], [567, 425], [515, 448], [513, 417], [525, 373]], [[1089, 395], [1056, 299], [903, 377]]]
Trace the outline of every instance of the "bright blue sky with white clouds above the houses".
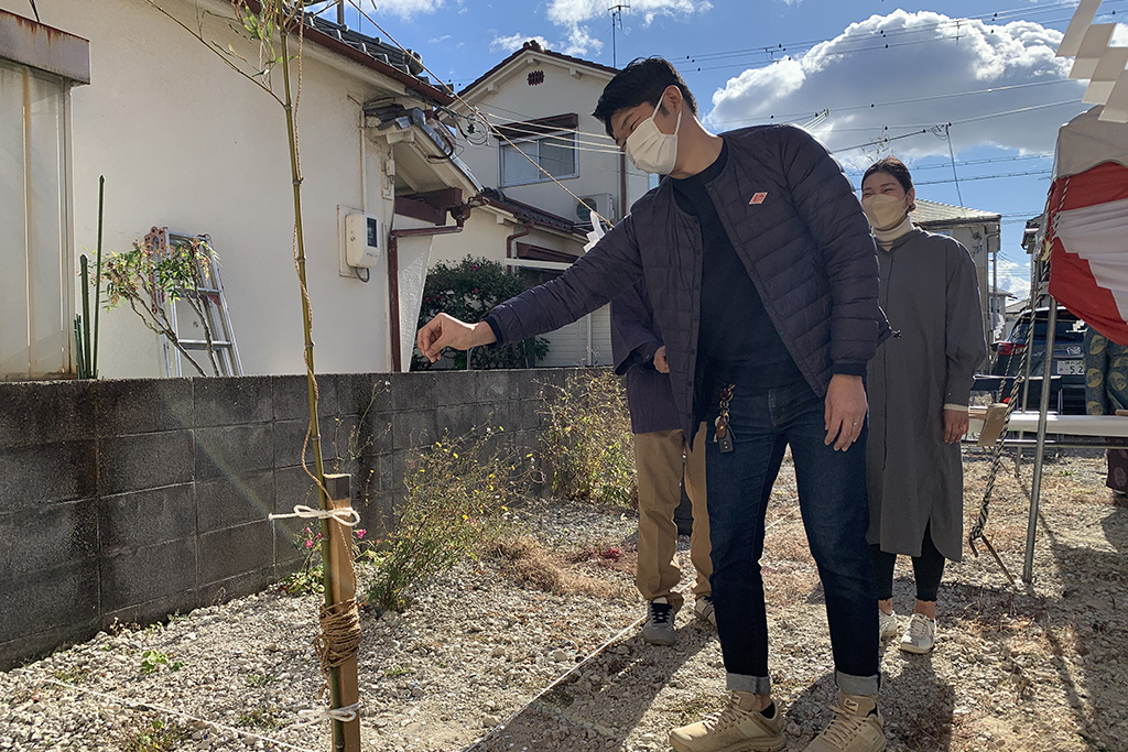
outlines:
[[[1042, 210], [1057, 129], [1087, 108], [1054, 56], [1069, 0], [634, 0], [614, 61], [608, 8], [625, 0], [354, 1], [456, 89], [538, 38], [605, 64], [666, 56], [714, 132], [826, 110], [810, 127], [855, 184], [893, 153], [919, 197], [1003, 214], [999, 286], [1020, 297], [1019, 244]], [[1128, 0], [1103, 0], [1098, 21], [1125, 16]], [[351, 6], [347, 24], [380, 36]]]

